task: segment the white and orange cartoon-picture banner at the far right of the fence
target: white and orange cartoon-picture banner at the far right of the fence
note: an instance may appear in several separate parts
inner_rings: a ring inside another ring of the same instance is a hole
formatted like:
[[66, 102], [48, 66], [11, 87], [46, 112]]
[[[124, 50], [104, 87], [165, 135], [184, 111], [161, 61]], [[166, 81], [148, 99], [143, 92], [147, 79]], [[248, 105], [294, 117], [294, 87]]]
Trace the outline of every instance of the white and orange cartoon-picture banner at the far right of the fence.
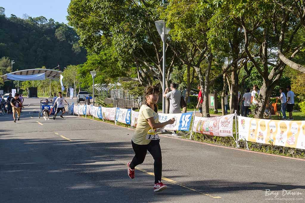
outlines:
[[239, 139], [305, 149], [305, 121], [238, 117]]

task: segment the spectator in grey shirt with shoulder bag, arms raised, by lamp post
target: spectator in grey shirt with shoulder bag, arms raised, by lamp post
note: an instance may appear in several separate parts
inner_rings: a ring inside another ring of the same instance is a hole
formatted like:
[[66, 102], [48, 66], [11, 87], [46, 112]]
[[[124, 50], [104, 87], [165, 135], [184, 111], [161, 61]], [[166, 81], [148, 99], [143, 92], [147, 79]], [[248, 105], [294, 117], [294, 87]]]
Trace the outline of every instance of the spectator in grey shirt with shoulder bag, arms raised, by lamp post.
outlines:
[[165, 89], [163, 97], [170, 99], [170, 113], [181, 113], [181, 91], [177, 90], [177, 84], [170, 84], [171, 91], [168, 91], [168, 88]]

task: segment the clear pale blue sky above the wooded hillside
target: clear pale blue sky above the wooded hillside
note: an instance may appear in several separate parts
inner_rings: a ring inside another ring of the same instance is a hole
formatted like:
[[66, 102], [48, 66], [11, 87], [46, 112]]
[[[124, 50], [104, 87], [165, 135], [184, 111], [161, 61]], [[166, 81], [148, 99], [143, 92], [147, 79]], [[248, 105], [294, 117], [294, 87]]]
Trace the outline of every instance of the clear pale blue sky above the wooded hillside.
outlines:
[[59, 23], [68, 23], [66, 16], [69, 3], [70, 0], [1, 0], [0, 7], [5, 8], [7, 17], [14, 14], [22, 18], [26, 13], [31, 17], [45, 16]]

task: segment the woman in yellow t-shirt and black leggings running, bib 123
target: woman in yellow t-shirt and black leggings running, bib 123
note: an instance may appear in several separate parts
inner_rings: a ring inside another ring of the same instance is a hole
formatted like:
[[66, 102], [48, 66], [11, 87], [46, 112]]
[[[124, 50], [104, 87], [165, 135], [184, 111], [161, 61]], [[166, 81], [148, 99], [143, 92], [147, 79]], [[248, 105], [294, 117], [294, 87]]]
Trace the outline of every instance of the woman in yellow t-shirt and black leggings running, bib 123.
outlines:
[[131, 145], [135, 151], [135, 157], [127, 163], [128, 176], [135, 178], [135, 167], [143, 163], [147, 151], [154, 158], [155, 184], [154, 192], [163, 191], [166, 185], [161, 182], [162, 177], [162, 155], [160, 148], [160, 137], [156, 129], [162, 128], [168, 124], [173, 124], [172, 118], [164, 123], [159, 123], [158, 106], [159, 88], [148, 86], [145, 89], [146, 104], [142, 105], [139, 111], [138, 124], [135, 134], [132, 136]]

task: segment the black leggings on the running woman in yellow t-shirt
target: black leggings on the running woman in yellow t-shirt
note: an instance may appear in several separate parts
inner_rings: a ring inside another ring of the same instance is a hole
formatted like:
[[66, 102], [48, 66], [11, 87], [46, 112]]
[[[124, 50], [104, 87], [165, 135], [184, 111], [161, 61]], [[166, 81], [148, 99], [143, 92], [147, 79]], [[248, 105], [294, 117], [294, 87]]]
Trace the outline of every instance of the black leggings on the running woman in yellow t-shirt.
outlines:
[[132, 159], [129, 167], [131, 169], [135, 169], [136, 166], [142, 164], [144, 162], [147, 150], [152, 155], [154, 162], [154, 173], [155, 173], [155, 183], [161, 182], [162, 177], [162, 155], [161, 155], [161, 147], [160, 140], [152, 140], [149, 144], [135, 144], [131, 141], [132, 148], [135, 151], [135, 157]]

